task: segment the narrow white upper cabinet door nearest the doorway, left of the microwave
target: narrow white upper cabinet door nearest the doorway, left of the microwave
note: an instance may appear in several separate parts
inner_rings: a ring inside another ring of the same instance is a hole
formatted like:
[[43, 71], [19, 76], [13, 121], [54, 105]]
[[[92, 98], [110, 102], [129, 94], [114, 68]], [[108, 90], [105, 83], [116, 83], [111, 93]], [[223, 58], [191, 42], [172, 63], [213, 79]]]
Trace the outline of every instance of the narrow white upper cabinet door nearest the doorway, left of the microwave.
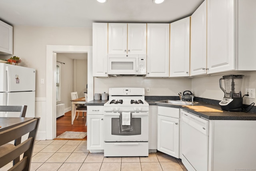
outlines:
[[92, 76], [108, 77], [108, 23], [92, 24]]

